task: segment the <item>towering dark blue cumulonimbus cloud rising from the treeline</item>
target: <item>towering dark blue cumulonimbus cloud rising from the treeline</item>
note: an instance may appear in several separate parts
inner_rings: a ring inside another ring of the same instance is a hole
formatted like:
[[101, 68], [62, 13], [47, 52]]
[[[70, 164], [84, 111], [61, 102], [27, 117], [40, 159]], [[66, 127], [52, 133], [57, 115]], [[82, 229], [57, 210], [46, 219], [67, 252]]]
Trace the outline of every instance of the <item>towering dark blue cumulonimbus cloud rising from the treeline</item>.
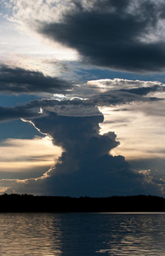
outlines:
[[146, 181], [141, 172], [134, 172], [123, 156], [111, 155], [119, 145], [114, 132], [100, 135], [102, 113], [95, 116], [60, 116], [49, 112], [32, 122], [63, 148], [58, 162], [38, 179], [49, 195], [109, 196], [162, 194], [158, 180]]

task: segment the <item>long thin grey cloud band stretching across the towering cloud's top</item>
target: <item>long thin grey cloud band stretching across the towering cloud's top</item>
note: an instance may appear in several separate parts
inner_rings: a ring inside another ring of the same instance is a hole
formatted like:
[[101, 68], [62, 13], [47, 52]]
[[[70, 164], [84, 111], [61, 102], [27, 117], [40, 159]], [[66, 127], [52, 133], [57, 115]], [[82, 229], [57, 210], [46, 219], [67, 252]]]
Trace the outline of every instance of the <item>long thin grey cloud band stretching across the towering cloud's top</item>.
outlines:
[[100, 116], [97, 107], [115, 106], [131, 102], [156, 102], [160, 99], [145, 97], [151, 92], [164, 91], [163, 86], [154, 85], [153, 87], [140, 87], [128, 90], [108, 90], [104, 93], [97, 93], [82, 100], [73, 98], [71, 100], [43, 99], [26, 103], [23, 106], [13, 108], [0, 107], [0, 122], [12, 119], [33, 119], [40, 118], [38, 114], [40, 108], [43, 108], [42, 115], [48, 115], [48, 111], [62, 116]]

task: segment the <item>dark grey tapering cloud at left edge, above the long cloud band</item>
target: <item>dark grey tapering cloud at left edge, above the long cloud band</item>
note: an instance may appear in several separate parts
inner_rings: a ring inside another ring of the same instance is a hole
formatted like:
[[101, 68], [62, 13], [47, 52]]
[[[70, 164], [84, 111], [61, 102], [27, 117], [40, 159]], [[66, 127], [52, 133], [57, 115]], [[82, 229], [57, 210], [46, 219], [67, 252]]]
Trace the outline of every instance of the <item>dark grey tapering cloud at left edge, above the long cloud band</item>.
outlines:
[[68, 89], [71, 89], [71, 84], [65, 80], [48, 77], [43, 73], [20, 67], [0, 66], [0, 91], [35, 94], [64, 92]]

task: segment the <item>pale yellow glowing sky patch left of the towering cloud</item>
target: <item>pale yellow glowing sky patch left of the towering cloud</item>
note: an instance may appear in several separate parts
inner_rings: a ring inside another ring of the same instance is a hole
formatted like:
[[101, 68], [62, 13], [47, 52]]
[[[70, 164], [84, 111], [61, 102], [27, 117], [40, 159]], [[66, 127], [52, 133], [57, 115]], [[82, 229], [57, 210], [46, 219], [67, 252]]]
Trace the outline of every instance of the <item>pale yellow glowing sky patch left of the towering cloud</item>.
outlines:
[[[0, 172], [47, 172], [62, 150], [54, 146], [49, 137], [4, 140], [0, 145]], [[26, 174], [25, 174], [26, 175]]]

